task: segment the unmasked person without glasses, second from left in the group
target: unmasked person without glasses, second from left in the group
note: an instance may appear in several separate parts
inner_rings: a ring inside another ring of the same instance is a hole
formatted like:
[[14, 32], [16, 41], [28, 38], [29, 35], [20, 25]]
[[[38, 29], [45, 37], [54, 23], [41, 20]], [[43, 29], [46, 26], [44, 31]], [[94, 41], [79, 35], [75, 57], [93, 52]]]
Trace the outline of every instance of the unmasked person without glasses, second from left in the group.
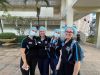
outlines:
[[46, 28], [41, 26], [39, 28], [38, 48], [39, 48], [39, 61], [38, 68], [40, 75], [49, 75], [49, 43], [50, 38], [46, 36]]

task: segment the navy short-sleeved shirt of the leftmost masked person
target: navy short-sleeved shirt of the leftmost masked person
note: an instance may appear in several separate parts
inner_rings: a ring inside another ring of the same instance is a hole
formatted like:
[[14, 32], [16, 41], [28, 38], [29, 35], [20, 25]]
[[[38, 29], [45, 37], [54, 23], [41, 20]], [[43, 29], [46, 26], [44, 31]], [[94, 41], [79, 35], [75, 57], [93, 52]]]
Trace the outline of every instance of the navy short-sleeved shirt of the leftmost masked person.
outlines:
[[26, 56], [38, 57], [37, 38], [30, 39], [26, 37], [23, 39], [21, 48], [25, 48]]

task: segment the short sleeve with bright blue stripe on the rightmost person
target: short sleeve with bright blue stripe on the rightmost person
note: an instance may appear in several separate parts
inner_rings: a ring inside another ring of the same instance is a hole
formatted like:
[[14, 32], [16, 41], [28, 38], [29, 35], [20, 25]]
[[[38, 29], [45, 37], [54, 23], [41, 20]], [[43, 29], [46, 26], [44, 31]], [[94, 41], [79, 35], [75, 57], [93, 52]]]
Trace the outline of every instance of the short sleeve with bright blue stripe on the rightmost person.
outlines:
[[80, 45], [76, 42], [73, 45], [73, 58], [74, 61], [81, 61], [82, 60], [82, 52], [81, 52], [81, 47]]

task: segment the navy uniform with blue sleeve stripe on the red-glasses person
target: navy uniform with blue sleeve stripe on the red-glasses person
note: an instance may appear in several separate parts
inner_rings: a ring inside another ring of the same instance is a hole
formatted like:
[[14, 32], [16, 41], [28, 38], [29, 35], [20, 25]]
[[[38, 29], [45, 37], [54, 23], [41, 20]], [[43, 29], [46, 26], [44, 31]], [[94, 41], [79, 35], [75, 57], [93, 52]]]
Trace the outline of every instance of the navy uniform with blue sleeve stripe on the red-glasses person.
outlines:
[[81, 47], [77, 42], [72, 46], [73, 39], [62, 47], [61, 65], [57, 75], [72, 75], [75, 62], [81, 61]]

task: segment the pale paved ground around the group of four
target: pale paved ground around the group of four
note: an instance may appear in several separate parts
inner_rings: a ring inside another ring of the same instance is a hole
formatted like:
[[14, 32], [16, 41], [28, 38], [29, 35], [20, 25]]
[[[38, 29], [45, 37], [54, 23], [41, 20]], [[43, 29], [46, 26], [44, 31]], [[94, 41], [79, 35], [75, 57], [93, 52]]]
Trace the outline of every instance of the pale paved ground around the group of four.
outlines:
[[[100, 49], [83, 46], [85, 60], [81, 66], [81, 75], [100, 75]], [[0, 75], [21, 75], [19, 70], [19, 48], [0, 48]], [[39, 75], [36, 70], [36, 75]]]

